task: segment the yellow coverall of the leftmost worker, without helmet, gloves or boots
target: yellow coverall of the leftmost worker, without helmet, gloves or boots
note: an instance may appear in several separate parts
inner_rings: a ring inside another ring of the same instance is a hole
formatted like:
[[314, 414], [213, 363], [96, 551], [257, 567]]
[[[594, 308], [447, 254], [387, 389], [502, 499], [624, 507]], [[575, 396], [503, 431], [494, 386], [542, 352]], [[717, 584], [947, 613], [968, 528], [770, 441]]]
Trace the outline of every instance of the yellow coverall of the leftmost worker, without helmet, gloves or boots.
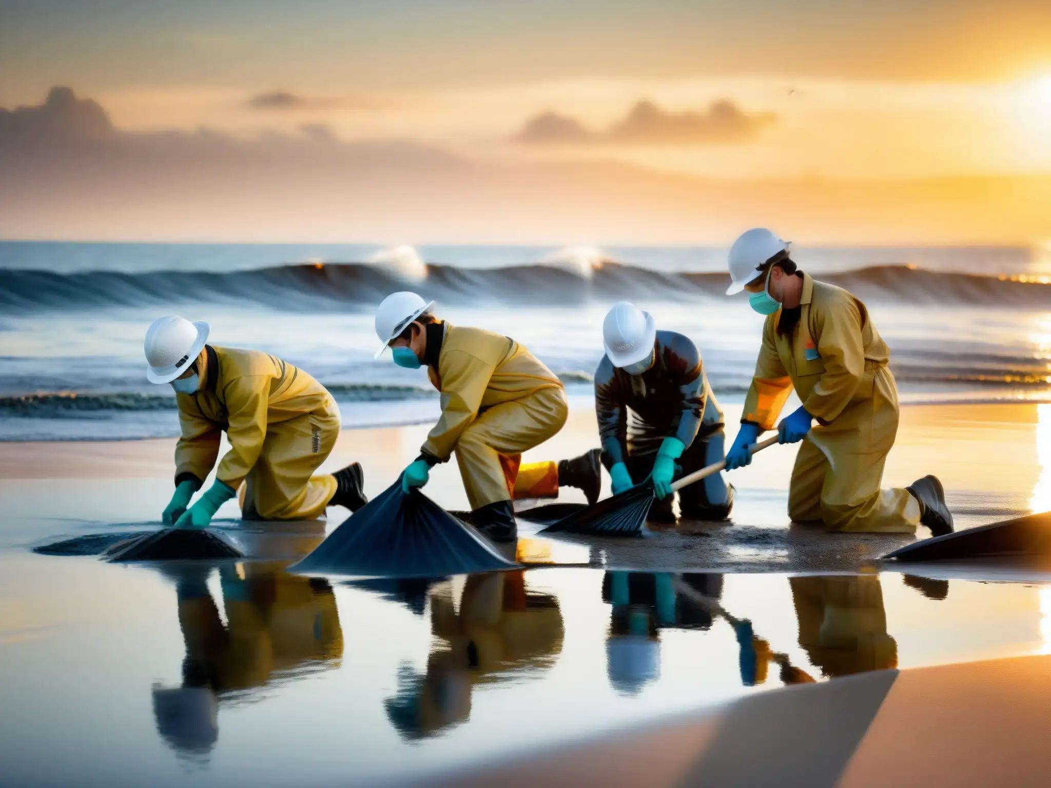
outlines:
[[234, 490], [246, 482], [246, 518], [308, 520], [323, 514], [336, 481], [312, 474], [339, 434], [332, 395], [303, 370], [255, 350], [208, 346], [198, 369], [200, 389], [176, 397], [182, 428], [177, 481], [208, 476], [225, 431], [230, 451], [215, 478]]

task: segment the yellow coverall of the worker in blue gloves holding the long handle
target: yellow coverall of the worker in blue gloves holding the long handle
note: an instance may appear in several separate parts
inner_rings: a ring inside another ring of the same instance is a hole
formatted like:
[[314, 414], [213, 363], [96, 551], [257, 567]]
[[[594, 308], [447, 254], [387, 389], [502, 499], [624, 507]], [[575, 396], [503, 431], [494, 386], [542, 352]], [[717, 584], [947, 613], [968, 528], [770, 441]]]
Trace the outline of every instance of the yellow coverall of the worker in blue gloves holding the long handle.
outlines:
[[743, 416], [772, 430], [795, 389], [818, 420], [796, 458], [788, 514], [830, 531], [911, 533], [919, 503], [880, 489], [899, 418], [887, 346], [846, 290], [803, 274], [800, 307], [788, 335], [778, 333], [781, 310], [766, 318]]

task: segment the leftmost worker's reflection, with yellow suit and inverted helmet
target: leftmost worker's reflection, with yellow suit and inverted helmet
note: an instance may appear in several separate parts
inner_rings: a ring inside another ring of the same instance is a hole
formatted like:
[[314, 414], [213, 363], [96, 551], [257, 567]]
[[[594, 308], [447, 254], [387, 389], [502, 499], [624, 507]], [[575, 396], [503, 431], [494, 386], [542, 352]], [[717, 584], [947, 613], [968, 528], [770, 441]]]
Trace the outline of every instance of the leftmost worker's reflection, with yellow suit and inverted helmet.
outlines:
[[332, 588], [289, 575], [287, 563], [220, 569], [226, 625], [207, 586], [211, 568], [165, 571], [176, 579], [186, 657], [182, 686], [153, 686], [153, 713], [161, 737], [180, 754], [211, 750], [225, 699], [338, 664], [343, 630]]

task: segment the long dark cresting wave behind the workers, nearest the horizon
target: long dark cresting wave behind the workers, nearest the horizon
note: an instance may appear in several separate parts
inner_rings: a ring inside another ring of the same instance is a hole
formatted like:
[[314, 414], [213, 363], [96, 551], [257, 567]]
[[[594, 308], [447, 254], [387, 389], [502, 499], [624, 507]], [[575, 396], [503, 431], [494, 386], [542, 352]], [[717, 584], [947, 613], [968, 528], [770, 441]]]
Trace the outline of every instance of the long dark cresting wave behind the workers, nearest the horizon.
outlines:
[[[544, 262], [494, 269], [434, 264], [420, 269], [413, 263], [414, 284], [409, 285], [406, 265], [315, 263], [225, 273], [0, 270], [0, 308], [24, 313], [218, 303], [326, 312], [371, 307], [407, 286], [442, 304], [575, 306], [621, 298], [682, 303], [722, 298], [727, 283], [723, 273], [667, 273], [591, 261], [586, 266]], [[1051, 282], [1039, 276], [989, 276], [893, 265], [821, 278], [871, 302], [1051, 307]]]

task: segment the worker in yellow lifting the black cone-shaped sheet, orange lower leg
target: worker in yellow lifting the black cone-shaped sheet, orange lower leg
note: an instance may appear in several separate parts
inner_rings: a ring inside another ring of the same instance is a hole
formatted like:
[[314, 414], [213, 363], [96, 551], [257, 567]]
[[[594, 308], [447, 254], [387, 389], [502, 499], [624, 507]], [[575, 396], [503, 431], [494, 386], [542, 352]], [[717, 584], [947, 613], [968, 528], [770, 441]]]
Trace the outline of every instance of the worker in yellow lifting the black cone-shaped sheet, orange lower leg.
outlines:
[[441, 418], [419, 457], [403, 475], [406, 491], [427, 483], [431, 468], [453, 452], [471, 504], [471, 523], [494, 542], [513, 542], [516, 498], [554, 498], [559, 486], [598, 499], [598, 451], [561, 462], [521, 464], [521, 453], [552, 437], [569, 407], [561, 380], [507, 336], [438, 320], [416, 293], [387, 296], [376, 310], [376, 334], [394, 364], [426, 365], [441, 392]]

